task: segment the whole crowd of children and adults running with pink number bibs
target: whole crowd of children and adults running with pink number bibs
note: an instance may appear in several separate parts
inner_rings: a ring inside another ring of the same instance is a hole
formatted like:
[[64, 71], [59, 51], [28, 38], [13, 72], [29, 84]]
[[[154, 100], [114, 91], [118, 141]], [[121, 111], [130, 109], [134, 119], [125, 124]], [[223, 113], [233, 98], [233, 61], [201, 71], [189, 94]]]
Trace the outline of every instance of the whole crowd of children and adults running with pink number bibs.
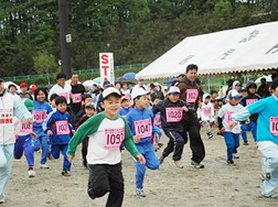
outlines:
[[[247, 145], [246, 132], [252, 131], [254, 141], [264, 155], [263, 195], [275, 197], [274, 190], [278, 185], [278, 110], [275, 110], [278, 102], [277, 78], [271, 85], [274, 95], [264, 99], [256, 94], [257, 85], [254, 81], [249, 81], [246, 88], [239, 81], [234, 81], [222, 99], [224, 103], [221, 107], [216, 91], [202, 92], [193, 78], [196, 72], [197, 66], [190, 65], [186, 76], [169, 88], [163, 95], [164, 99], [147, 90], [141, 80], [131, 90], [118, 90], [110, 85], [99, 90], [99, 86], [94, 85], [93, 94], [84, 94], [78, 86], [81, 91], [76, 89], [73, 96], [68, 87], [61, 86], [65, 86], [64, 75], [57, 76], [60, 84], [50, 95], [44, 88], [36, 88], [33, 95], [23, 89], [22, 96], [19, 96], [33, 115], [34, 122], [24, 123], [14, 118], [14, 159], [21, 159], [24, 153], [28, 175], [34, 177], [35, 151], [42, 152], [41, 168], [50, 167], [47, 159], [58, 159], [62, 154], [64, 159], [61, 174], [70, 176], [76, 148], [82, 143], [83, 164], [89, 170], [89, 197], [95, 199], [109, 192], [107, 206], [121, 206], [124, 178], [120, 154], [124, 148], [135, 160], [136, 195], [146, 197], [146, 170], [158, 170], [171, 153], [174, 165], [182, 168], [181, 159], [188, 139], [192, 150], [191, 164], [196, 168], [204, 167], [201, 163], [205, 156], [201, 126], [207, 138], [213, 139], [215, 134], [212, 126], [217, 123], [227, 148], [228, 165], [234, 165], [234, 160], [239, 159], [239, 134]], [[25, 83], [21, 87], [26, 87]], [[68, 95], [65, 96], [65, 92]], [[71, 112], [73, 99], [76, 99], [75, 105], [81, 103], [74, 115]], [[169, 141], [158, 156], [156, 151], [162, 145], [162, 131]]]

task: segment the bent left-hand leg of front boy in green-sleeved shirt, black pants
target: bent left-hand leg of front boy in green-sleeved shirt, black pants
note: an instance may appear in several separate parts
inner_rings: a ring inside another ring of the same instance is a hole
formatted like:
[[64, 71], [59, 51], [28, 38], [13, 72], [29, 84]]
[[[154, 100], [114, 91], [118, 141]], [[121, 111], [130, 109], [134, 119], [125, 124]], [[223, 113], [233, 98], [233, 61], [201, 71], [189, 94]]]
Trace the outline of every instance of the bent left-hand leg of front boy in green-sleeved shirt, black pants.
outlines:
[[109, 165], [107, 164], [88, 165], [88, 195], [92, 199], [103, 197], [110, 190], [108, 167]]

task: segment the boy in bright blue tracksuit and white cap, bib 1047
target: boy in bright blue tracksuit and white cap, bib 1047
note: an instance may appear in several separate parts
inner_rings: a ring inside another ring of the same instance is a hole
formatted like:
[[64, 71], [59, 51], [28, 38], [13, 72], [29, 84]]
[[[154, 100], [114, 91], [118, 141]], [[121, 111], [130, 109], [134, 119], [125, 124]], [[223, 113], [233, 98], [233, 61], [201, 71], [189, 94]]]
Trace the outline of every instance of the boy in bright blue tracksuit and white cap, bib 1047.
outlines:
[[[136, 164], [136, 195], [146, 197], [143, 193], [143, 178], [146, 166], [150, 170], [157, 170], [160, 165], [159, 159], [151, 144], [152, 135], [159, 132], [154, 131], [153, 113], [149, 107], [149, 96], [141, 87], [135, 87], [131, 91], [131, 98], [135, 102], [135, 109], [127, 113], [126, 120], [131, 129], [133, 141], [138, 151], [146, 157], [146, 165], [135, 161]], [[158, 128], [157, 128], [158, 129]]]

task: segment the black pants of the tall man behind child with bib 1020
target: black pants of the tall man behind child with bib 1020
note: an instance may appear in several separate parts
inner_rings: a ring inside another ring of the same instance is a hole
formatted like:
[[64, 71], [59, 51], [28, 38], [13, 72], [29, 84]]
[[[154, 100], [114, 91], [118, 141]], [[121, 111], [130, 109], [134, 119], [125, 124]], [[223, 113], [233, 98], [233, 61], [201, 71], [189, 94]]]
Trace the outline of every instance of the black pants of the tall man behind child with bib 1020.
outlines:
[[188, 135], [190, 138], [190, 149], [192, 151], [192, 161], [201, 163], [205, 157], [204, 143], [200, 134], [201, 124], [197, 120], [184, 121], [185, 143]]

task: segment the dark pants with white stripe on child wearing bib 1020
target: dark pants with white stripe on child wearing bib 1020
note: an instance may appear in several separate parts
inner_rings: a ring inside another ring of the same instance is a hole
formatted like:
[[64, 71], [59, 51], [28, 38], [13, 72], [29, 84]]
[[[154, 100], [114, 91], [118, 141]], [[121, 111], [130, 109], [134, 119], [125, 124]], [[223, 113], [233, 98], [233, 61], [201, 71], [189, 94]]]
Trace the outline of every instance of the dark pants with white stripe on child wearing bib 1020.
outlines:
[[173, 152], [173, 161], [181, 160], [183, 146], [185, 144], [184, 138], [178, 131], [169, 130], [164, 132], [169, 138], [169, 142], [167, 144], [167, 148], [162, 152], [162, 156], [167, 157], [170, 153]]

